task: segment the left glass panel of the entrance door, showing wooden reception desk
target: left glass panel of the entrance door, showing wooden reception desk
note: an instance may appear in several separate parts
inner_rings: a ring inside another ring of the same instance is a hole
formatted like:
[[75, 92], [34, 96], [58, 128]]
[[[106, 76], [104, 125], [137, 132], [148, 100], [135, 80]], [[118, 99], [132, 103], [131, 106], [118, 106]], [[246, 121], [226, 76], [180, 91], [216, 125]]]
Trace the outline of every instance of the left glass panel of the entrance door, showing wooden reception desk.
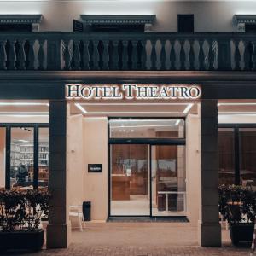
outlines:
[[112, 216], [149, 216], [148, 145], [110, 146]]

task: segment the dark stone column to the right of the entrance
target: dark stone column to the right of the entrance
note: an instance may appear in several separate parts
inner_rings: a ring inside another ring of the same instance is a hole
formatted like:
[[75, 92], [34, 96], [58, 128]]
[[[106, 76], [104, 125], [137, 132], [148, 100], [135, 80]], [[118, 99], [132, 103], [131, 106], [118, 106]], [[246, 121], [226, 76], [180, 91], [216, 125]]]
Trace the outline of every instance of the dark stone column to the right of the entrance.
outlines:
[[201, 100], [201, 224], [200, 244], [221, 246], [218, 220], [218, 107], [217, 100]]

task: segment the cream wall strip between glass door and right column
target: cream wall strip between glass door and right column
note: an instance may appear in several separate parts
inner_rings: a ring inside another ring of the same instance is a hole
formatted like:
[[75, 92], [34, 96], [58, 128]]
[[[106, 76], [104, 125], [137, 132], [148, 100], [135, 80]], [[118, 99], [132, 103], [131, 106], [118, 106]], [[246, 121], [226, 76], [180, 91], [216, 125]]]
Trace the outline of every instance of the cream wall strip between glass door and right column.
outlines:
[[189, 114], [186, 119], [186, 186], [187, 217], [197, 226], [200, 208], [201, 177], [201, 129], [200, 117]]

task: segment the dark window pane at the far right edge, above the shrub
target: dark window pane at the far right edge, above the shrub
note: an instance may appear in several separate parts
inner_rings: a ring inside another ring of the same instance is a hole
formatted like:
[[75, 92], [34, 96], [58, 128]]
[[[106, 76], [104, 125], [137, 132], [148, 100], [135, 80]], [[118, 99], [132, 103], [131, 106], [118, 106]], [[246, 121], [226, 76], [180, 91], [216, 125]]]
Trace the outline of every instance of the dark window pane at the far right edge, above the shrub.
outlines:
[[239, 129], [240, 183], [256, 189], [256, 128]]

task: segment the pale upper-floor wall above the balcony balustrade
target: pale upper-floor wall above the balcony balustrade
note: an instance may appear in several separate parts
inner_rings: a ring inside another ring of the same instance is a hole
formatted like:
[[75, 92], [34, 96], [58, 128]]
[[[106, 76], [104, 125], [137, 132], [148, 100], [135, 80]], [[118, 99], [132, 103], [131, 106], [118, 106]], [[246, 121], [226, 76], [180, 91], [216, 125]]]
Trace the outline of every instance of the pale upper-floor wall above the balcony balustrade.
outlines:
[[255, 14], [250, 1], [1, 1], [0, 14], [42, 14], [42, 31], [72, 31], [79, 15], [156, 15], [154, 31], [176, 32], [177, 14], [195, 15], [195, 32], [233, 31], [235, 14]]

